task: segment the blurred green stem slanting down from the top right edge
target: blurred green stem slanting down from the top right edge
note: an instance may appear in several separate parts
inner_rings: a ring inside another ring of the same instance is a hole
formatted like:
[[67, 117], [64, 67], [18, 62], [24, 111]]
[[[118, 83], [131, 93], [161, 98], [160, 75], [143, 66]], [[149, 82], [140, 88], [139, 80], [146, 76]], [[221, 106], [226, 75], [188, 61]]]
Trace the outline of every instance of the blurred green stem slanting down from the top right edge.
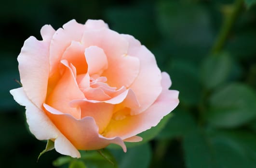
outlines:
[[224, 47], [224, 44], [227, 41], [227, 38], [229, 36], [230, 30], [233, 24], [235, 23], [239, 13], [241, 12], [242, 7], [243, 7], [243, 0], [236, 0], [234, 2], [232, 11], [228, 13], [228, 15], [226, 16], [226, 19], [224, 20], [220, 28], [219, 34], [211, 50], [211, 54], [219, 53]]

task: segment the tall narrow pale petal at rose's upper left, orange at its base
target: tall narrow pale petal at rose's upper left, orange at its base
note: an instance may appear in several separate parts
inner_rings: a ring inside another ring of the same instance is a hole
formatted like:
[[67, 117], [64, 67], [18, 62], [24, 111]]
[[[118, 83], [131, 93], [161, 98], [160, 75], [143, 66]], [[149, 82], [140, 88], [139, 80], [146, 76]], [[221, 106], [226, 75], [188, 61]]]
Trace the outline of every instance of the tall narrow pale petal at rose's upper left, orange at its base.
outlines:
[[[75, 30], [75, 31], [74, 31]], [[76, 20], [71, 20], [59, 28], [51, 41], [50, 45], [50, 76], [58, 69], [61, 57], [72, 41], [81, 42], [82, 34], [85, 30], [83, 24], [78, 24]]]

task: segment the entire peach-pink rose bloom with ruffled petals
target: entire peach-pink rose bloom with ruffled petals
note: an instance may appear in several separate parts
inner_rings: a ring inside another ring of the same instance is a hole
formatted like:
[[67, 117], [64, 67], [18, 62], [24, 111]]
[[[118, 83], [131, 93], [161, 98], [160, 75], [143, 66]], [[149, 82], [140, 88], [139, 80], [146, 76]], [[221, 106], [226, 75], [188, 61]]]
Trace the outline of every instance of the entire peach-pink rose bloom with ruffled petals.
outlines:
[[54, 141], [63, 155], [80, 157], [124, 142], [156, 126], [179, 103], [178, 91], [159, 70], [154, 55], [133, 36], [102, 20], [75, 20], [54, 30], [41, 28], [18, 56], [22, 87], [11, 90], [26, 107], [29, 130]]

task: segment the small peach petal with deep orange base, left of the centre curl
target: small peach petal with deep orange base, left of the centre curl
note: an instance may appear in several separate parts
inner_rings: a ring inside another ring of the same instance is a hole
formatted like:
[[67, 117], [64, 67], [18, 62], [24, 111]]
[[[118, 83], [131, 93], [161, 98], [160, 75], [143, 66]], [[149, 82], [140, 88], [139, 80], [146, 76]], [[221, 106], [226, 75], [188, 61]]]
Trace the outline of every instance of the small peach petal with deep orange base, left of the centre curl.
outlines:
[[71, 45], [66, 49], [61, 58], [62, 60], [67, 60], [76, 67], [77, 74], [87, 72], [87, 62], [84, 56], [84, 47], [80, 42], [72, 41]]

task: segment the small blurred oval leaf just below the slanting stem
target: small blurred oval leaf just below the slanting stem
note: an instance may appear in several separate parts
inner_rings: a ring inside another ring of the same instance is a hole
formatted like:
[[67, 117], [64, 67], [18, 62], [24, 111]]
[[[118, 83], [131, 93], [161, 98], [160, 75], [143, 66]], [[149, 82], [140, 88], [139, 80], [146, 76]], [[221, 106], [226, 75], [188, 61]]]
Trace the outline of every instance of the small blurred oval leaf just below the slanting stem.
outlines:
[[202, 83], [212, 89], [224, 83], [231, 72], [232, 61], [228, 53], [207, 57], [202, 62]]

